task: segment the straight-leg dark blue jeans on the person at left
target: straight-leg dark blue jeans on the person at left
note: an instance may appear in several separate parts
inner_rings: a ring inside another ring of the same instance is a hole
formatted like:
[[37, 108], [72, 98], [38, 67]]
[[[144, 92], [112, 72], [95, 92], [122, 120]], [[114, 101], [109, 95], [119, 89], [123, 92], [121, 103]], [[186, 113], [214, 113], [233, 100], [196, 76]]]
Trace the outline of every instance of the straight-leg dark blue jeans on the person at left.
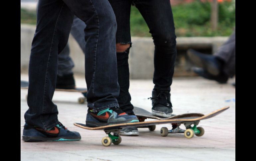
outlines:
[[64, 49], [74, 14], [86, 24], [85, 79], [88, 107], [119, 107], [115, 48], [116, 20], [107, 0], [39, 0], [37, 28], [29, 62], [25, 121], [44, 129], [58, 123], [55, 91], [58, 54]]

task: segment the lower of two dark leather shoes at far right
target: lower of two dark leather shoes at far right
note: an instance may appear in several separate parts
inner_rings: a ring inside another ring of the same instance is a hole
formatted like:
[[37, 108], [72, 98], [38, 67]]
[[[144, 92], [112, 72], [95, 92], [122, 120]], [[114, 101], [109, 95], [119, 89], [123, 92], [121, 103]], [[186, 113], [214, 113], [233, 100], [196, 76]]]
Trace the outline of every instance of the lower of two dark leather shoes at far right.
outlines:
[[228, 75], [224, 74], [223, 72], [221, 72], [219, 75], [215, 76], [215, 75], [208, 73], [203, 68], [193, 67], [192, 70], [199, 76], [202, 76], [206, 79], [215, 80], [219, 83], [227, 83], [227, 80], [228, 80]]

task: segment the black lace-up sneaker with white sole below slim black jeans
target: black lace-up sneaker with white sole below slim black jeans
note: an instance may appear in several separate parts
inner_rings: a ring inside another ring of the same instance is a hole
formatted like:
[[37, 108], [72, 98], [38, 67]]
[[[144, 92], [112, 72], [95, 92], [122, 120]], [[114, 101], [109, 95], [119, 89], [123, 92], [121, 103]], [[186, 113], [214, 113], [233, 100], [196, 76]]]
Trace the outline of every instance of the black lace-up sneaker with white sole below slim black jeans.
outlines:
[[168, 91], [152, 91], [152, 115], [162, 118], [169, 118], [173, 113], [171, 94]]

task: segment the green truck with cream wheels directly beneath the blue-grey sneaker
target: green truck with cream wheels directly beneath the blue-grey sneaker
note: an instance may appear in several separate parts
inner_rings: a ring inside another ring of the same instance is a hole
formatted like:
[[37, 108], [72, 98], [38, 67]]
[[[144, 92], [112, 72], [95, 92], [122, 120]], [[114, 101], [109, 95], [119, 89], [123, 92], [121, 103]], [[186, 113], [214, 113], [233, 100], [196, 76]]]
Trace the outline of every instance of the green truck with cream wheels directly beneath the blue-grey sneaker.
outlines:
[[[110, 146], [111, 143], [118, 145], [121, 143], [122, 138], [119, 136], [119, 132], [121, 131], [121, 128], [117, 129], [104, 129], [105, 133], [108, 134], [108, 136], [105, 136], [102, 138], [101, 143], [104, 146]], [[111, 134], [113, 133], [113, 135]]]

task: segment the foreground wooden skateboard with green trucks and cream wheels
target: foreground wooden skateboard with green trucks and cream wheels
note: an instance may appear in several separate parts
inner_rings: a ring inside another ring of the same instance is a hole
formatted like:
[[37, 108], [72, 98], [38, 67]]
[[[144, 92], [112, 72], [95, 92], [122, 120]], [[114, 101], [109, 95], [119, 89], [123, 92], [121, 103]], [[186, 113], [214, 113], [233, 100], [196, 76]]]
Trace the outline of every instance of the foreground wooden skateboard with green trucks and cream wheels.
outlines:
[[[119, 136], [119, 132], [124, 127], [150, 126], [150, 125], [165, 124], [165, 123], [183, 123], [187, 128], [184, 132], [185, 137], [192, 138], [194, 135], [202, 136], [204, 134], [204, 129], [202, 127], [196, 127], [199, 121], [212, 118], [222, 113], [223, 111], [227, 110], [228, 108], [229, 106], [226, 106], [216, 111], [213, 111], [207, 115], [203, 115], [201, 117], [199, 116], [183, 117], [183, 118], [175, 117], [167, 120], [120, 123], [120, 124], [111, 124], [111, 125], [100, 126], [100, 127], [90, 127], [82, 123], [74, 123], [74, 125], [87, 130], [104, 130], [105, 133], [108, 134], [108, 136], [103, 137], [101, 140], [101, 143], [104, 146], [110, 146], [111, 143], [115, 145], [120, 144], [122, 141], [122, 138]], [[186, 114], [184, 115], [186, 116]], [[193, 124], [193, 127], [191, 126], [192, 124]], [[111, 134], [111, 132], [113, 133], [113, 135]], [[164, 135], [167, 135], [168, 131], [166, 131], [165, 129], [161, 129], [161, 133], [163, 133]]]

